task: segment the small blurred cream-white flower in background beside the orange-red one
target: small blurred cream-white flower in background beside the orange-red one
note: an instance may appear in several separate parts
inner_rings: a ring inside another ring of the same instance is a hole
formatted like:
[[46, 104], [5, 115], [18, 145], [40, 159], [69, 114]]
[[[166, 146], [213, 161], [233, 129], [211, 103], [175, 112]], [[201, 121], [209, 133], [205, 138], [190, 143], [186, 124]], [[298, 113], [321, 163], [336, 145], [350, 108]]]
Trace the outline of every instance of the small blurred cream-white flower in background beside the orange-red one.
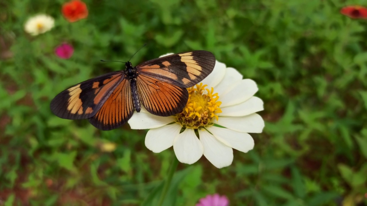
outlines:
[[24, 24], [24, 30], [29, 34], [36, 36], [51, 30], [54, 25], [55, 20], [52, 16], [38, 14], [28, 19]]

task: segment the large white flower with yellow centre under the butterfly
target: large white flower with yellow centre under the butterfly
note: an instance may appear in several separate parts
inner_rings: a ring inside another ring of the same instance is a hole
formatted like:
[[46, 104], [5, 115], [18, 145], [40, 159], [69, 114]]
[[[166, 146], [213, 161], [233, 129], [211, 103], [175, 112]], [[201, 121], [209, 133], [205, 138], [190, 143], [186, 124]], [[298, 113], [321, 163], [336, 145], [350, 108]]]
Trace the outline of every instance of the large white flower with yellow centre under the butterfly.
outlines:
[[190, 97], [181, 113], [160, 117], [142, 108], [128, 123], [131, 129], [150, 129], [145, 146], [153, 152], [173, 146], [180, 162], [192, 164], [204, 154], [217, 168], [228, 166], [232, 148], [251, 150], [254, 140], [248, 132], [261, 133], [264, 128], [264, 120], [256, 114], [264, 110], [264, 103], [253, 96], [257, 85], [242, 78], [237, 70], [216, 61], [209, 76], [188, 88]]

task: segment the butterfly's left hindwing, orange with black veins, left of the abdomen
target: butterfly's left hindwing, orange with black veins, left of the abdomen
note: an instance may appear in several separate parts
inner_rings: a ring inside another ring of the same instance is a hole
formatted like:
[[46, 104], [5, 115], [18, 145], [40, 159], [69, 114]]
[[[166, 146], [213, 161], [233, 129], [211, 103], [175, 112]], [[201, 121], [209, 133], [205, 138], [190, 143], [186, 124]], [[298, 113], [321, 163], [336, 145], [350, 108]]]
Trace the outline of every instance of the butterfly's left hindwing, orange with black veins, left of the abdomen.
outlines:
[[98, 129], [111, 130], [125, 124], [133, 112], [130, 81], [124, 77], [89, 122]]

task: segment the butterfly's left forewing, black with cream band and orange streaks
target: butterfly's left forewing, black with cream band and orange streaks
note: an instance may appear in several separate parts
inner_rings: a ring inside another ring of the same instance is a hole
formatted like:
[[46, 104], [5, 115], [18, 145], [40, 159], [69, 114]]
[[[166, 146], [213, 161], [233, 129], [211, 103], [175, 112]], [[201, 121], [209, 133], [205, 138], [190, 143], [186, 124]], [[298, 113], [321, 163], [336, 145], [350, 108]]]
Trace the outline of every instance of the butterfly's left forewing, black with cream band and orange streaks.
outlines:
[[93, 117], [124, 77], [124, 71], [115, 71], [74, 85], [55, 96], [50, 109], [64, 119]]

